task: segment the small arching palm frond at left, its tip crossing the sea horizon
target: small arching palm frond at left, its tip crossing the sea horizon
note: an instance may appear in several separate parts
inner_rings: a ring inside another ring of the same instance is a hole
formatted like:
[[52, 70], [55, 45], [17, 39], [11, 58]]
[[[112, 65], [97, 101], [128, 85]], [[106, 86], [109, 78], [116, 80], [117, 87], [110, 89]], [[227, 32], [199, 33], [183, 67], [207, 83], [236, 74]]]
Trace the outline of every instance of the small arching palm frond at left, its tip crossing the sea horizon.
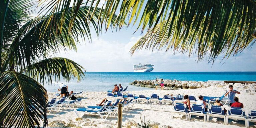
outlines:
[[51, 83], [53, 79], [59, 81], [60, 77], [66, 81], [74, 78], [80, 81], [85, 76], [82, 70], [85, 71], [82, 66], [72, 60], [55, 57], [34, 63], [23, 71], [26, 75], [40, 80], [42, 83]]

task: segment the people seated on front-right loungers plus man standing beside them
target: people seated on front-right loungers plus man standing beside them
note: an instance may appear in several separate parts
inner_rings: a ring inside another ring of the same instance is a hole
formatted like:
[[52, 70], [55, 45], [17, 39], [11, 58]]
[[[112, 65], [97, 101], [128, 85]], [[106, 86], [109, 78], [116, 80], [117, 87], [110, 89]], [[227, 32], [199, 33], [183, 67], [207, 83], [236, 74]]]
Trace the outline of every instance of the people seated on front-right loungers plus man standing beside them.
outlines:
[[[229, 85], [229, 91], [227, 91], [226, 94], [225, 94], [225, 96], [228, 96], [229, 105], [231, 107], [243, 108], [244, 105], [239, 102], [239, 99], [238, 99], [238, 97], [235, 96], [235, 94], [241, 94], [241, 93], [236, 91], [236, 90], [233, 90], [233, 86]], [[169, 94], [167, 94], [167, 96], [172, 97], [172, 95], [169, 95]], [[190, 108], [190, 100], [189, 100], [188, 95], [184, 96], [182, 103], [187, 105], [188, 111], [191, 110], [191, 108]], [[201, 95], [198, 96], [198, 100], [196, 101], [196, 104], [197, 105], [203, 105], [204, 108], [205, 108], [205, 112], [207, 111], [206, 103], [203, 100], [203, 96], [201, 96]], [[220, 103], [220, 100], [218, 98], [216, 99], [214, 105], [215, 106], [223, 106], [223, 104]], [[226, 113], [226, 112], [227, 112], [227, 110], [224, 108], [224, 113]]]

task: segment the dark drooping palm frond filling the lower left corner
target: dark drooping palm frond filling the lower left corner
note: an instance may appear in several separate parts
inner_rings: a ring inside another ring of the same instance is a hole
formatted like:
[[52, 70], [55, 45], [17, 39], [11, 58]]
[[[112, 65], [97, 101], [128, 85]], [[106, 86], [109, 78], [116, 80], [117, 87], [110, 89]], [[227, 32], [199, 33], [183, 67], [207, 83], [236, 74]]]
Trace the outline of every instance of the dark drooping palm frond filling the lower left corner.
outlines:
[[0, 99], [3, 127], [47, 127], [47, 92], [34, 79], [12, 71], [1, 73]]

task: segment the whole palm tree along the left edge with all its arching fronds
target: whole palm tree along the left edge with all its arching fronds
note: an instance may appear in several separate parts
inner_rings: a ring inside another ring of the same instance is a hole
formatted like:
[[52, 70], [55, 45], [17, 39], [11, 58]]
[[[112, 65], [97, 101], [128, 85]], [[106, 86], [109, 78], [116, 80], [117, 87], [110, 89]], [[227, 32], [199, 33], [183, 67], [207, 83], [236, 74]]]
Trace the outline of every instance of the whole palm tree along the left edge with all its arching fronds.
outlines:
[[101, 8], [74, 6], [31, 17], [36, 7], [34, 0], [0, 1], [0, 127], [47, 127], [48, 96], [41, 83], [60, 77], [80, 81], [85, 71], [70, 59], [53, 56], [76, 50], [80, 37], [90, 40], [91, 29], [98, 34], [109, 22]]

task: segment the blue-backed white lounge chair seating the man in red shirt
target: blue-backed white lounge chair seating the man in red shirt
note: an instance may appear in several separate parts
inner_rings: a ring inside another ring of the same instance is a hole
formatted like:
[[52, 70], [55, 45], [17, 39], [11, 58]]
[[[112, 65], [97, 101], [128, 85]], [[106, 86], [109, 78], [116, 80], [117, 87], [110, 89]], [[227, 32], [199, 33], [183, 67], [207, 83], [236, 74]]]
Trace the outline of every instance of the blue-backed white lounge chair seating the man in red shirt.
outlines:
[[228, 115], [226, 116], [226, 123], [228, 125], [228, 119], [236, 119], [236, 120], [244, 120], [245, 121], [245, 127], [248, 126], [248, 120], [245, 117], [245, 110], [244, 108], [237, 108], [237, 107], [229, 107], [228, 109]]

